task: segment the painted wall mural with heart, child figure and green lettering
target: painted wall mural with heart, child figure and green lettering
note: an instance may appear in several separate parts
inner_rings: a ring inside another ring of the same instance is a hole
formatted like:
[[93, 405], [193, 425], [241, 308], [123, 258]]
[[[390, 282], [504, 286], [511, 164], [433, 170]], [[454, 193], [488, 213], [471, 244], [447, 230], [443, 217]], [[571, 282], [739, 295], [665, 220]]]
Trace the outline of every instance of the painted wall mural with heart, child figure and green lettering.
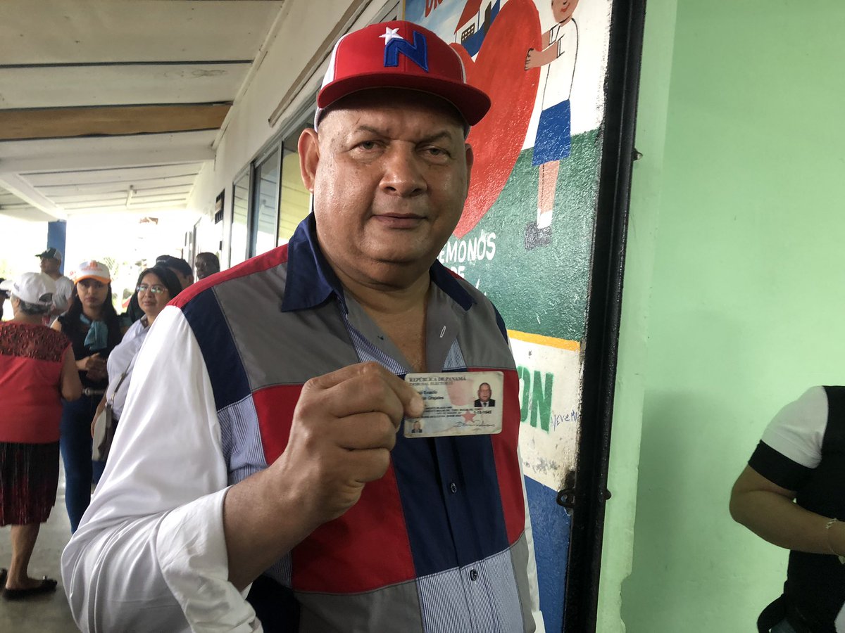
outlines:
[[521, 455], [546, 628], [561, 629], [581, 349], [591, 276], [613, 0], [406, 0], [493, 100], [468, 142], [464, 214], [439, 259], [488, 295], [521, 383]]

